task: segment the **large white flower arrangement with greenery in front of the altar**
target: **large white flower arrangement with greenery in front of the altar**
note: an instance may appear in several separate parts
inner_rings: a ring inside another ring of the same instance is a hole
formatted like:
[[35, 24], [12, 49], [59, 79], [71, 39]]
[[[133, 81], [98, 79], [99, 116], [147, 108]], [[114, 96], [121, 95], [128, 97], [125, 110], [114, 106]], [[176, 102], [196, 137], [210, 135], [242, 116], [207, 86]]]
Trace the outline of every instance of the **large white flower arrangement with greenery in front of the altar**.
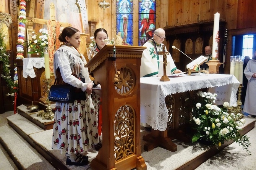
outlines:
[[241, 145], [246, 152], [250, 146], [248, 136], [240, 135], [239, 131], [245, 123], [245, 119], [235, 121], [235, 114], [228, 114], [228, 102], [224, 102], [223, 107], [216, 105], [217, 94], [199, 91], [194, 97], [191, 123], [196, 130], [192, 142], [198, 140], [211, 141], [217, 146], [221, 146], [224, 141], [233, 140]]

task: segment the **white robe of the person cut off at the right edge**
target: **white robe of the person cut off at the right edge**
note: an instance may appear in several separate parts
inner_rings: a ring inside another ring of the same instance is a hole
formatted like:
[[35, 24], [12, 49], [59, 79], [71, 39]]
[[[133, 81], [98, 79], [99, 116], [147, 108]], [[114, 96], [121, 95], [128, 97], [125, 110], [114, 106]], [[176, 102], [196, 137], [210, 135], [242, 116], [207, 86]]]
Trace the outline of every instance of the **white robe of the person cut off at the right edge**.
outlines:
[[251, 77], [254, 73], [256, 73], [256, 59], [251, 59], [250, 61], [248, 61], [244, 73], [245, 77], [248, 79], [248, 84], [243, 111], [251, 115], [256, 115], [256, 78]]

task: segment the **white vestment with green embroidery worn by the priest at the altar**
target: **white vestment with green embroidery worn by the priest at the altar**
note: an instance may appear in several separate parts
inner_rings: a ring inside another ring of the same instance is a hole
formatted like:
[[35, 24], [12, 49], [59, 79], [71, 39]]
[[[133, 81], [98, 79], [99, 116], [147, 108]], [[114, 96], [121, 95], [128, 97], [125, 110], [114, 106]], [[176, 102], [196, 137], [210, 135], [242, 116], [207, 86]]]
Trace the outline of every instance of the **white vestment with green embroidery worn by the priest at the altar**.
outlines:
[[[159, 55], [164, 44], [157, 44], [153, 38], [150, 38], [143, 46], [147, 47], [142, 53], [141, 58], [141, 77], [156, 76], [159, 74], [159, 63], [162, 64], [163, 55]], [[167, 55], [167, 71], [170, 75], [177, 69], [170, 53]], [[163, 67], [162, 67], [163, 68]], [[161, 70], [162, 71], [162, 70]]]

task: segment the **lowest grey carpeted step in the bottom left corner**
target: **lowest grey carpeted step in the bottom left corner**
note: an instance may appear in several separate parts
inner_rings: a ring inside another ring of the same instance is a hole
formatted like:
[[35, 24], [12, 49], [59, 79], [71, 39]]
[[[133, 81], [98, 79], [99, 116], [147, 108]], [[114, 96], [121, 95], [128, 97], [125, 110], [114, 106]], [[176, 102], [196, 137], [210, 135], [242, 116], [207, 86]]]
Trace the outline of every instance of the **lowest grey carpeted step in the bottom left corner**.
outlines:
[[8, 125], [0, 127], [0, 143], [19, 169], [55, 169], [36, 149], [30, 146], [26, 140]]

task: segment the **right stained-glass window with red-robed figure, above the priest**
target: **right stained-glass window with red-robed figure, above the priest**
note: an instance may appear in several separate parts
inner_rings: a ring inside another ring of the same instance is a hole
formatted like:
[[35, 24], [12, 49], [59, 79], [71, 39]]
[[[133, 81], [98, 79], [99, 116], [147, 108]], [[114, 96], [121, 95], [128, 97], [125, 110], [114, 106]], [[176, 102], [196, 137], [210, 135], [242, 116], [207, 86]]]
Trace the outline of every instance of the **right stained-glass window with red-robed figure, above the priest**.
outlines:
[[153, 37], [156, 29], [156, 0], [139, 0], [139, 46]]

